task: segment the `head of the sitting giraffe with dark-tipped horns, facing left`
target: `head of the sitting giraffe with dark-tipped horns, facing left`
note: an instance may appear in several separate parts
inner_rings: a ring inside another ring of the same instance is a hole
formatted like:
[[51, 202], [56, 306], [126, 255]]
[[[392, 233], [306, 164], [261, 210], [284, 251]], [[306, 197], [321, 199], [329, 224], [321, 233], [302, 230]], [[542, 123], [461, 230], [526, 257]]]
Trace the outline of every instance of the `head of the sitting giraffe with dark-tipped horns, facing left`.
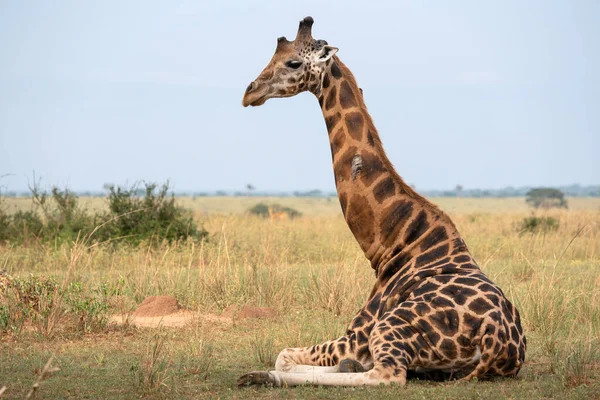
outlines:
[[313, 39], [313, 22], [311, 17], [300, 21], [294, 41], [283, 36], [277, 39], [273, 58], [244, 93], [244, 107], [260, 106], [270, 98], [291, 97], [307, 90], [320, 94], [329, 60], [338, 49], [325, 40]]

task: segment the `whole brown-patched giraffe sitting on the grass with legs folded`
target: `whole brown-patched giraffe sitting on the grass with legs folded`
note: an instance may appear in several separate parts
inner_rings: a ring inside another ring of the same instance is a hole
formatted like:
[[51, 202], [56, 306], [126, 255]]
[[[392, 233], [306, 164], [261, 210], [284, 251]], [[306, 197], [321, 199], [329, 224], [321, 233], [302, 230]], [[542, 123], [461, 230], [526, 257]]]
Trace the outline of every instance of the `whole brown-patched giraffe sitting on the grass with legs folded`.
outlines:
[[294, 41], [277, 40], [242, 104], [304, 91], [317, 97], [341, 209], [376, 280], [344, 336], [284, 349], [275, 370], [247, 373], [238, 385], [404, 385], [407, 373], [430, 371], [463, 380], [516, 376], [526, 349], [519, 312], [448, 215], [396, 173], [362, 90], [338, 48], [313, 39], [313, 22], [300, 21]]

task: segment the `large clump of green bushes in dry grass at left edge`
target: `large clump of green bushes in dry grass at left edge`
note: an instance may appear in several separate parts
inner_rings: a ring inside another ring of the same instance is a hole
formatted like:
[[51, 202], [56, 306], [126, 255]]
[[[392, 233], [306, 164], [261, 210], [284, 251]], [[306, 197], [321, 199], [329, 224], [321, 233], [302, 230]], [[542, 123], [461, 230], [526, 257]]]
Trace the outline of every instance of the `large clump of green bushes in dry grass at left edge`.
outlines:
[[34, 186], [33, 210], [10, 215], [0, 208], [0, 243], [61, 244], [80, 237], [139, 245], [205, 239], [208, 232], [196, 225], [189, 211], [175, 204], [168, 190], [168, 183], [160, 189], [156, 184], [145, 184], [143, 189], [109, 186], [108, 211], [90, 215], [71, 191], [53, 188], [48, 194]]

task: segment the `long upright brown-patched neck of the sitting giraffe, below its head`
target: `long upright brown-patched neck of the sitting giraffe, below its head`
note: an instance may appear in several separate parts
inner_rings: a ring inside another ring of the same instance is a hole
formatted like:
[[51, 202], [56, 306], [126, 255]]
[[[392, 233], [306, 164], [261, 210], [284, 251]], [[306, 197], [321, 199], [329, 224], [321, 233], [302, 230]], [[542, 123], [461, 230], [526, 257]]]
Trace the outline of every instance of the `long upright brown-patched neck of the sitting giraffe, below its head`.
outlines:
[[450, 218], [396, 173], [362, 91], [337, 57], [323, 75], [317, 96], [344, 218], [378, 277], [390, 260], [406, 263], [434, 248], [450, 254], [464, 247]]

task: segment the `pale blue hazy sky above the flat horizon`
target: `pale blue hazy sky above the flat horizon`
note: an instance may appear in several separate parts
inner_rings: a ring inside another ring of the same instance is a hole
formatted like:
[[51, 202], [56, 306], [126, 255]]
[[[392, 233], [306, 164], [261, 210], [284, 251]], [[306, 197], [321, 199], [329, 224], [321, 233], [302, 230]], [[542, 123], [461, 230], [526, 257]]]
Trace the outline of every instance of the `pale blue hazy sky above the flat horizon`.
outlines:
[[417, 189], [600, 182], [598, 1], [3, 1], [0, 185], [333, 189], [311, 94], [241, 105], [306, 15]]

